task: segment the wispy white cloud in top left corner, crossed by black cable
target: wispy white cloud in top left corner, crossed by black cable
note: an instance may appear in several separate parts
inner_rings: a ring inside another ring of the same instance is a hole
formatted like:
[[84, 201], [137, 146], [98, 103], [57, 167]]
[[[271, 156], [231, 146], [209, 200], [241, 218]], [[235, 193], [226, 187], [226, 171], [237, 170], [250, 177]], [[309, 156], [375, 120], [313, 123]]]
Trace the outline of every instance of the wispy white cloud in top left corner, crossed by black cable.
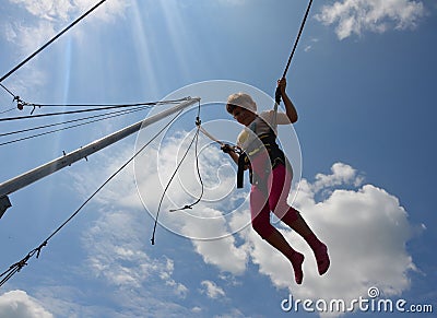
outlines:
[[[4, 19], [0, 26], [2, 36], [12, 44], [16, 56], [28, 57], [56, 34], [76, 20], [96, 4], [94, 0], [9, 0], [14, 5], [23, 8], [12, 20]], [[123, 16], [131, 1], [111, 0], [103, 3], [83, 21], [106, 24], [119, 16]], [[34, 16], [35, 19], [32, 19]], [[81, 24], [81, 23], [80, 23]], [[83, 28], [74, 26], [67, 34], [78, 40], [83, 37]], [[52, 45], [56, 45], [54, 43]], [[37, 60], [35, 56], [33, 60]], [[47, 70], [26, 63], [20, 71], [26, 70], [25, 76], [20, 76], [9, 84], [12, 92], [26, 95], [29, 90], [37, 92], [37, 87], [46, 84]], [[32, 89], [29, 89], [32, 87]]]

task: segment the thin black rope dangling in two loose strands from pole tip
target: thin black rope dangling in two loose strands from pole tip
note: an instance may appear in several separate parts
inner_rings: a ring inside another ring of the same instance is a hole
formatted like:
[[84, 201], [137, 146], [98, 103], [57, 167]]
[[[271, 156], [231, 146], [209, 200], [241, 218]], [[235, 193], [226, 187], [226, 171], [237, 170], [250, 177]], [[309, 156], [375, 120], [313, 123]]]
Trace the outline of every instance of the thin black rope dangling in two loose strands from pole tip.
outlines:
[[200, 180], [200, 184], [201, 184], [201, 193], [200, 193], [199, 198], [198, 198], [193, 203], [187, 204], [187, 205], [185, 205], [184, 208], [169, 210], [169, 212], [176, 212], [176, 211], [192, 209], [193, 205], [198, 204], [198, 203], [202, 200], [203, 192], [204, 192], [204, 186], [203, 186], [202, 176], [200, 175], [199, 153], [198, 153], [198, 141], [199, 141], [200, 123], [201, 123], [201, 121], [200, 121], [200, 101], [199, 101], [198, 115], [197, 115], [197, 117], [196, 117], [197, 130], [196, 130], [194, 137], [192, 138], [190, 144], [188, 145], [188, 148], [187, 148], [187, 150], [186, 150], [186, 152], [185, 152], [182, 158], [180, 160], [180, 162], [179, 162], [179, 164], [177, 165], [175, 172], [173, 173], [172, 177], [169, 178], [167, 185], [165, 186], [165, 189], [164, 189], [164, 191], [163, 191], [163, 195], [161, 196], [160, 204], [158, 204], [158, 207], [157, 207], [157, 212], [156, 212], [156, 216], [155, 216], [155, 223], [154, 223], [154, 225], [153, 225], [153, 233], [152, 233], [152, 238], [151, 238], [152, 245], [155, 245], [155, 233], [156, 233], [156, 226], [157, 226], [157, 219], [158, 219], [158, 216], [160, 216], [161, 207], [162, 207], [164, 197], [165, 197], [165, 195], [166, 195], [166, 192], [167, 192], [167, 190], [168, 190], [168, 187], [170, 186], [173, 179], [175, 178], [177, 172], [179, 170], [179, 167], [182, 165], [185, 158], [187, 157], [188, 152], [190, 151], [190, 149], [191, 149], [191, 146], [192, 146], [192, 144], [193, 144], [194, 141], [196, 141], [196, 146], [194, 146], [194, 151], [196, 151], [196, 167], [197, 167], [197, 174], [198, 174], [198, 177], [199, 177], [199, 180]]

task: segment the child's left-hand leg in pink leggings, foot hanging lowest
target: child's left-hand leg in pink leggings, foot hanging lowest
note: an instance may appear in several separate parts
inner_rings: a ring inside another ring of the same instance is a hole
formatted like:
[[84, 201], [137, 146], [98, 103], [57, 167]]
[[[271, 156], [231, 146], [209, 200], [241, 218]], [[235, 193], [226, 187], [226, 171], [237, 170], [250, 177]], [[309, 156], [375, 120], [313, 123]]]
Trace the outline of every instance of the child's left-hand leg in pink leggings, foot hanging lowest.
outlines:
[[267, 202], [265, 193], [257, 186], [252, 186], [250, 191], [250, 211], [253, 229], [292, 262], [295, 281], [297, 284], [302, 284], [304, 279], [304, 273], [302, 271], [304, 256], [294, 250], [285, 240], [284, 236], [270, 224], [270, 208]]

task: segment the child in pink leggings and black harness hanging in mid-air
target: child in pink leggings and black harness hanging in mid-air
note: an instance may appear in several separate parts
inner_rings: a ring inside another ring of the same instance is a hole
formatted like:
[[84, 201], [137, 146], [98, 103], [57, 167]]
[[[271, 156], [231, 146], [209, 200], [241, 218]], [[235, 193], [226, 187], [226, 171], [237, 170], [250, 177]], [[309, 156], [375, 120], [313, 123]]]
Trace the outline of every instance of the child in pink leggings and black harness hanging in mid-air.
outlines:
[[[275, 126], [296, 122], [297, 111], [285, 92], [285, 78], [277, 81], [277, 86], [284, 101], [285, 114], [271, 110], [258, 115], [257, 104], [245, 93], [228, 97], [226, 110], [245, 126], [237, 139], [243, 154], [238, 155], [229, 146], [222, 150], [238, 164], [237, 187], [243, 187], [243, 169], [249, 168], [252, 182], [249, 200], [252, 227], [291, 261], [295, 281], [302, 284], [304, 255], [294, 250], [284, 236], [270, 224], [270, 211], [308, 243], [315, 254], [320, 275], [328, 271], [330, 259], [327, 246], [317, 238], [300, 213], [286, 202], [293, 176], [291, 168], [287, 168], [290, 164], [275, 141]], [[273, 125], [269, 125], [270, 122]]]

